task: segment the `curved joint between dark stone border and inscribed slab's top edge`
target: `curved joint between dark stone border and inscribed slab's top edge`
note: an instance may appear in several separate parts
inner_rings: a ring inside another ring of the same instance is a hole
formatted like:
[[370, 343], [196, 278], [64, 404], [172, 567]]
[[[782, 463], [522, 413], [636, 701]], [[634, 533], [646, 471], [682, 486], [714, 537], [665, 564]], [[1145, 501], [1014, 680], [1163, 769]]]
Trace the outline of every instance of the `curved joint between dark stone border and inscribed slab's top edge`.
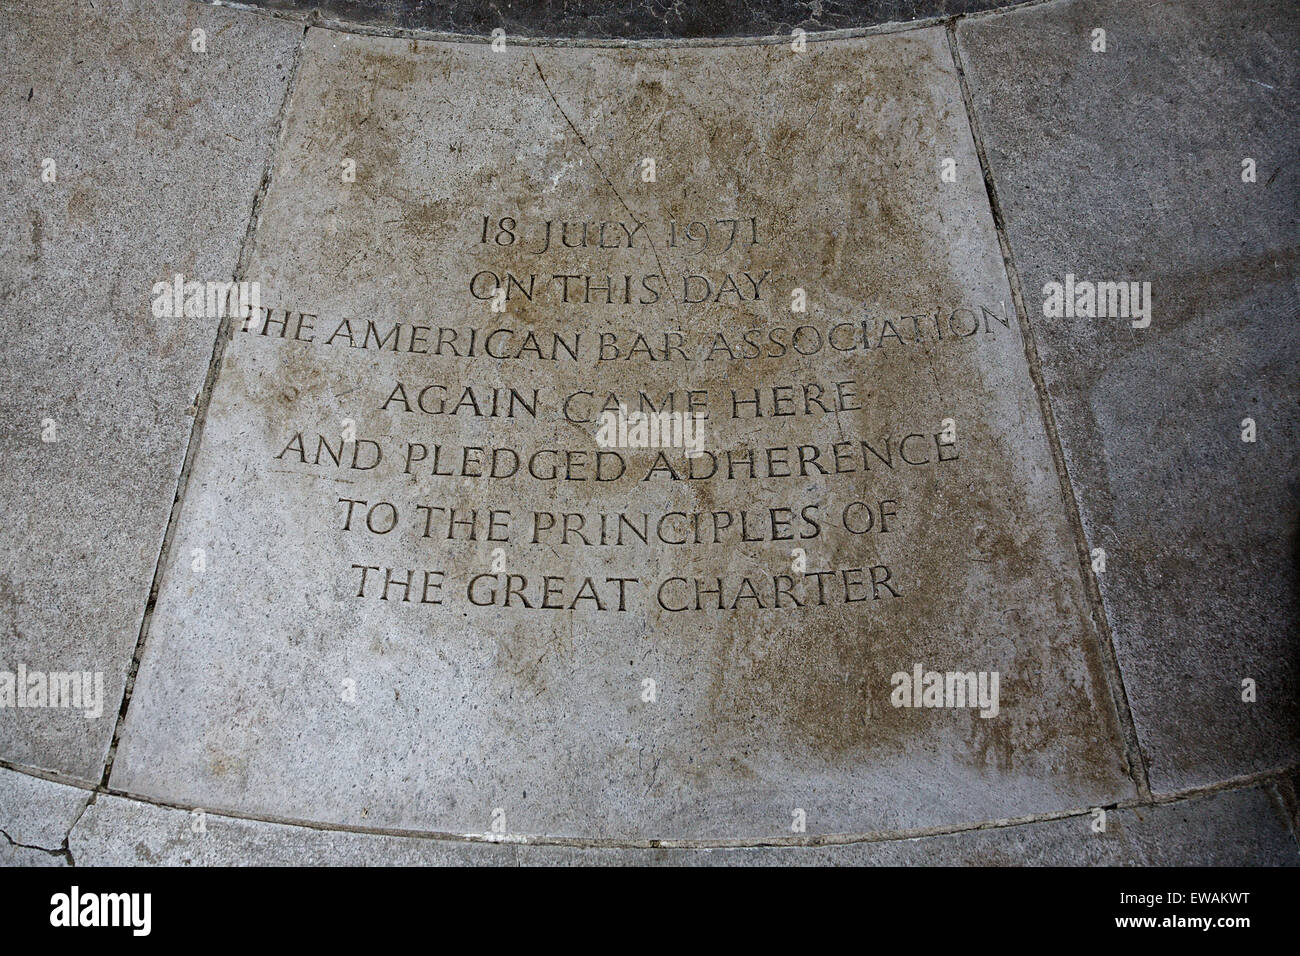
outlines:
[[[334, 33], [352, 34], [355, 36], [380, 36], [404, 40], [426, 40], [433, 43], [464, 43], [489, 44], [490, 35], [463, 34], [450, 30], [425, 30], [420, 27], [403, 27], [386, 23], [359, 23], [337, 17], [328, 17], [318, 7], [309, 12], [278, 10], [265, 7], [255, 7], [247, 3], [226, 3], [225, 0], [191, 0], [202, 7], [218, 7], [254, 17], [269, 20], [283, 20], [294, 23], [311, 22], [311, 26]], [[809, 30], [805, 38], [809, 43], [824, 43], [828, 40], [849, 40], [859, 36], [884, 36], [889, 34], [910, 33], [913, 30], [928, 30], [944, 26], [956, 20], [983, 20], [1005, 13], [1017, 13], [1032, 7], [1043, 7], [1053, 3], [1066, 3], [1067, 0], [1023, 0], [1011, 7], [994, 7], [988, 10], [974, 10], [971, 13], [942, 13], [933, 17], [909, 21], [885, 21], [868, 26], [846, 26], [829, 30]], [[789, 34], [755, 34], [744, 36], [646, 36], [641, 39], [628, 39], [619, 36], [533, 36], [526, 34], [508, 34], [506, 42], [510, 46], [520, 47], [552, 47], [571, 49], [708, 49], [720, 47], [763, 47], [789, 43], [793, 33]]]

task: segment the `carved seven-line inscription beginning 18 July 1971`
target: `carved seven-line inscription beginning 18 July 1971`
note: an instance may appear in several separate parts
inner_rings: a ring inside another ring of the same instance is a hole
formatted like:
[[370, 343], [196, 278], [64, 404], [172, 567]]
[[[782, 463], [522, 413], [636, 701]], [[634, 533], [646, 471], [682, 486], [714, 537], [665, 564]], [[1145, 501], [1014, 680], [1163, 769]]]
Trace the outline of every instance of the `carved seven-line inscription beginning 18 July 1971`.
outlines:
[[[351, 486], [320, 501], [341, 536], [373, 553], [339, 567], [350, 600], [432, 613], [673, 615], [907, 600], [909, 575], [883, 542], [913, 533], [933, 509], [918, 488], [956, 480], [971, 453], [953, 419], [867, 425], [888, 403], [876, 377], [900, 351], [972, 349], [1008, 333], [1006, 306], [812, 315], [809, 290], [750, 261], [768, 232], [745, 215], [644, 222], [484, 213], [463, 237], [482, 268], [464, 277], [464, 299], [448, 311], [468, 321], [257, 308], [240, 334], [356, 355], [358, 419], [382, 423], [287, 423], [273, 455], [281, 472]], [[689, 265], [620, 271], [647, 259]], [[734, 315], [710, 328], [692, 320], [705, 308]], [[521, 310], [526, 321], [515, 319]], [[533, 320], [538, 311], [547, 321]], [[550, 365], [575, 368], [581, 384], [556, 384]], [[485, 434], [490, 424], [495, 440], [467, 442], [464, 428], [445, 427], [467, 420]], [[382, 489], [395, 479], [403, 493], [380, 489], [380, 476]], [[581, 509], [516, 503], [525, 485], [578, 484], [590, 489]], [[696, 506], [653, 506], [659, 489], [679, 484], [702, 489]], [[394, 540], [428, 562], [391, 559]], [[696, 558], [707, 564], [710, 553], [746, 546], [774, 561], [753, 572], [699, 572]], [[624, 555], [646, 549], [670, 555], [670, 567], [672, 554], [690, 551], [696, 570], [620, 572]], [[846, 550], [859, 559], [835, 559]], [[455, 553], [488, 555], [486, 566], [448, 562]], [[581, 557], [550, 572], [547, 554], [593, 555], [590, 572], [569, 570]]]

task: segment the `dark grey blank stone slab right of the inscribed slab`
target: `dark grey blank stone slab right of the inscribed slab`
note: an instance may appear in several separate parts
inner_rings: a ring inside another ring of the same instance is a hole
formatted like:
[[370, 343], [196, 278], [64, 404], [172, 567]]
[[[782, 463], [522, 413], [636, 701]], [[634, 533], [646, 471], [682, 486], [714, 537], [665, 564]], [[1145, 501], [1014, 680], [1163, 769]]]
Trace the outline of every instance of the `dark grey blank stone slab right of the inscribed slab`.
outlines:
[[[1295, 763], [1295, 4], [1054, 3], [958, 38], [1152, 786]], [[1150, 282], [1149, 328], [1044, 316], [1067, 273]]]

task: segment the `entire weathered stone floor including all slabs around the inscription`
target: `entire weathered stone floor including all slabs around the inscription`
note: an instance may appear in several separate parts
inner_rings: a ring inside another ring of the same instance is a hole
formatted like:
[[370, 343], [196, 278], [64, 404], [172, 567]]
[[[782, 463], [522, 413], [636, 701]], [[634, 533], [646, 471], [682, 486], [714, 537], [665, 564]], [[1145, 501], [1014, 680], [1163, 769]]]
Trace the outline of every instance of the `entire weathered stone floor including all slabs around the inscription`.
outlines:
[[0, 862], [1295, 865], [1295, 5], [646, 9], [0, 5]]

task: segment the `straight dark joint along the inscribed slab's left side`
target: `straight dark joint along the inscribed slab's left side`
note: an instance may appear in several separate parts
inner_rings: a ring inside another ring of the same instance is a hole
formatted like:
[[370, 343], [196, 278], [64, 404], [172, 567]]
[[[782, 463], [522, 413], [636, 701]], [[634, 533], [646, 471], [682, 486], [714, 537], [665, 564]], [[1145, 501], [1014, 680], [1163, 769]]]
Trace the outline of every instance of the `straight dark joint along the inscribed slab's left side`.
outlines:
[[[266, 195], [266, 190], [270, 187], [270, 178], [276, 168], [276, 160], [280, 155], [281, 135], [283, 134], [285, 120], [289, 114], [289, 104], [296, 87], [298, 69], [303, 57], [303, 47], [307, 42], [307, 30], [311, 29], [311, 17], [308, 17], [303, 22], [302, 35], [298, 38], [298, 43], [294, 47], [294, 57], [289, 66], [289, 77], [285, 81], [285, 95], [276, 114], [266, 161], [261, 170], [257, 190], [254, 193], [252, 207], [248, 213], [248, 224], [244, 228], [243, 238], [239, 242], [239, 251], [235, 256], [235, 268], [231, 278], [237, 284], [240, 281], [240, 277], [244, 274], [248, 265], [250, 248], [252, 246], [254, 235], [256, 234], [257, 219], [261, 215], [263, 200]], [[231, 294], [231, 299], [233, 298], [234, 295]], [[168, 512], [166, 528], [162, 532], [162, 541], [159, 546], [157, 561], [153, 564], [153, 579], [150, 584], [148, 600], [144, 604], [144, 615], [140, 618], [140, 631], [135, 639], [135, 652], [131, 654], [131, 665], [126, 674], [126, 682], [122, 685], [122, 702], [117, 710], [117, 721], [113, 724], [113, 737], [109, 741], [108, 753], [104, 757], [104, 771], [100, 774], [100, 787], [105, 790], [108, 787], [109, 775], [113, 773], [113, 762], [117, 760], [117, 745], [121, 740], [122, 727], [126, 722], [126, 711], [131, 704], [131, 693], [135, 691], [135, 678], [140, 670], [144, 644], [148, 640], [150, 628], [153, 623], [153, 609], [157, 604], [159, 591], [162, 585], [162, 575], [168, 566], [168, 559], [172, 557], [172, 546], [179, 524], [178, 519], [181, 515], [181, 507], [185, 501], [185, 494], [190, 486], [190, 475], [194, 471], [194, 462], [198, 458], [199, 445], [203, 438], [203, 428], [208, 418], [208, 407], [212, 402], [212, 393], [216, 389], [217, 376], [221, 372], [221, 362], [225, 358], [226, 343], [230, 339], [233, 329], [234, 323], [230, 320], [230, 316], [224, 316], [218, 321], [216, 341], [212, 345], [212, 355], [208, 359], [208, 371], [204, 376], [199, 395], [195, 399], [194, 425], [190, 428], [190, 438], [186, 442], [185, 458], [181, 463], [181, 472], [177, 476], [176, 492], [172, 497], [172, 509]]]

